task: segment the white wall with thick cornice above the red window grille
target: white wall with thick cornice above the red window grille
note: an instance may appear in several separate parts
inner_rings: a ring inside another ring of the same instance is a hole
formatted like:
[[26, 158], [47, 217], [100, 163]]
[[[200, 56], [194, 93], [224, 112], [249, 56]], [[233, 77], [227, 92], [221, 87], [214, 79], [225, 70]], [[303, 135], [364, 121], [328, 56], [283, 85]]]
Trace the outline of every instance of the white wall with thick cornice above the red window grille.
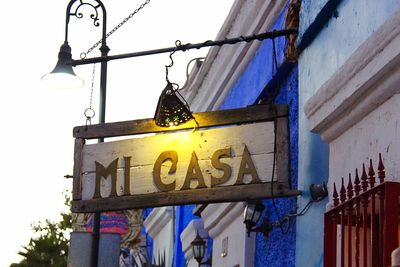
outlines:
[[310, 128], [329, 143], [330, 188], [369, 159], [376, 170], [379, 153], [388, 178], [399, 177], [399, 92], [400, 10], [306, 104]]

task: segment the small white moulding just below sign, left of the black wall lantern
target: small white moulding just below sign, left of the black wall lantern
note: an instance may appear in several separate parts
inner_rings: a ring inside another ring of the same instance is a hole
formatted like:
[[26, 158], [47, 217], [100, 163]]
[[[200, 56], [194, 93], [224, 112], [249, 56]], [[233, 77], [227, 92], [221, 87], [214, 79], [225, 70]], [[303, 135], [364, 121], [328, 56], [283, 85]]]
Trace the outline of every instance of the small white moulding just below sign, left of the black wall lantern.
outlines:
[[[242, 216], [244, 208], [243, 202], [210, 204], [201, 213], [204, 228], [214, 238], [222, 233], [238, 216]], [[244, 229], [243, 227], [243, 231]]]

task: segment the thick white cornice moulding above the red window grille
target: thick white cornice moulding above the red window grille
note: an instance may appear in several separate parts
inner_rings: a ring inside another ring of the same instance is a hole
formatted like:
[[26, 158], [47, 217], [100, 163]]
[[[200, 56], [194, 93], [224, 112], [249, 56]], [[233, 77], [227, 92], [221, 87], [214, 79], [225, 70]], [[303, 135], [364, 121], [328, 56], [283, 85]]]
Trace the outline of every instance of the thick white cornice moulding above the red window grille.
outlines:
[[400, 91], [400, 11], [390, 17], [306, 103], [313, 132], [332, 142]]

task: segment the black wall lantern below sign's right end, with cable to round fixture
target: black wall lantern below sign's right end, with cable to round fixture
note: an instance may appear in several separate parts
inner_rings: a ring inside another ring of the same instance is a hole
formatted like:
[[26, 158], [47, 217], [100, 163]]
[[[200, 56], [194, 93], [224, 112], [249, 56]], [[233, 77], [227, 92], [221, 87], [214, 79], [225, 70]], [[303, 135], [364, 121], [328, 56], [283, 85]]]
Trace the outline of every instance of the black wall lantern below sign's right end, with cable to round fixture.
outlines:
[[[269, 233], [274, 227], [280, 227], [282, 232], [287, 233], [290, 227], [290, 219], [292, 217], [304, 215], [313, 203], [319, 202], [328, 196], [328, 189], [326, 187], [326, 184], [311, 184], [310, 196], [311, 200], [299, 213], [287, 214], [282, 219], [279, 219], [276, 222], [269, 222], [267, 216], [264, 215], [262, 222], [259, 226], [257, 225], [261, 220], [265, 206], [261, 203], [261, 201], [247, 202], [246, 208], [244, 210], [243, 222], [246, 225], [247, 235], [250, 236], [251, 232], [259, 232], [262, 233], [264, 237], [268, 237]], [[283, 229], [284, 225], [287, 225], [286, 231], [284, 231]]]

